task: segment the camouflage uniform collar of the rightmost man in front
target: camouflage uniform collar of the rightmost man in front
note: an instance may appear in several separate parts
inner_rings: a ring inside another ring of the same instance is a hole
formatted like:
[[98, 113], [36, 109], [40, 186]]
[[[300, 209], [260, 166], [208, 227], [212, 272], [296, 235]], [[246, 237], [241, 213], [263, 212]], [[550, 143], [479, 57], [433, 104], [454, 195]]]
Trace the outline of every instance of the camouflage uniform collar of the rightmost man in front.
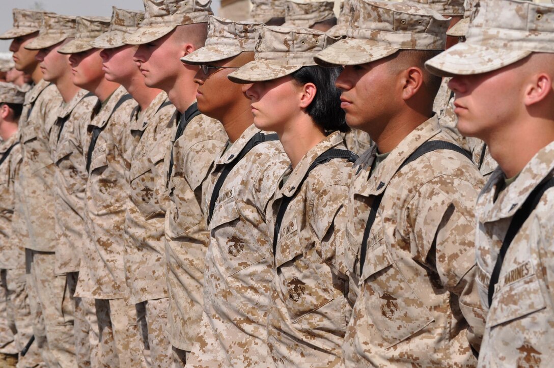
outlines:
[[525, 165], [516, 180], [502, 190], [494, 202], [495, 192], [505, 176], [500, 167], [491, 174], [478, 200], [480, 222], [497, 221], [514, 216], [531, 191], [554, 170], [554, 142], [538, 151]]

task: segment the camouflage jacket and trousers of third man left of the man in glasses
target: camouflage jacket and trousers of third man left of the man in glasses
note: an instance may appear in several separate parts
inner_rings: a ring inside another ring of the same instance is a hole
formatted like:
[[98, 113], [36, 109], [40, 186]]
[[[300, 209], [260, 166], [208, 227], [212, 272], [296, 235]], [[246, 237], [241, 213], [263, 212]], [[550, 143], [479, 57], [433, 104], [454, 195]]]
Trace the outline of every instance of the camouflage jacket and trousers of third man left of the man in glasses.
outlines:
[[95, 128], [102, 131], [91, 154], [85, 187], [83, 258], [75, 295], [96, 299], [101, 337], [96, 359], [110, 366], [144, 364], [136, 309], [127, 305], [124, 268], [125, 211], [129, 205], [125, 172], [130, 168], [125, 157], [132, 152], [129, 121], [136, 106], [124, 87], [119, 87], [88, 127], [89, 132]]

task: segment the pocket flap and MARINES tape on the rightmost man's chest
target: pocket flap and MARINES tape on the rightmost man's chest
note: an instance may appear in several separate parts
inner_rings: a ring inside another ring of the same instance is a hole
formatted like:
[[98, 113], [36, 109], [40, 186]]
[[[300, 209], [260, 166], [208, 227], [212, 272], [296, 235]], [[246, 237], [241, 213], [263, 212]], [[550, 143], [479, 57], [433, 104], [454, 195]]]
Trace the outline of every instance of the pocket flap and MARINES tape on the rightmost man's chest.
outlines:
[[[520, 277], [527, 272], [529, 274], [510, 283], [510, 278]], [[539, 281], [530, 261], [510, 269], [500, 279], [504, 280], [503, 286], [496, 289], [487, 317], [487, 325], [490, 328], [546, 308]]]

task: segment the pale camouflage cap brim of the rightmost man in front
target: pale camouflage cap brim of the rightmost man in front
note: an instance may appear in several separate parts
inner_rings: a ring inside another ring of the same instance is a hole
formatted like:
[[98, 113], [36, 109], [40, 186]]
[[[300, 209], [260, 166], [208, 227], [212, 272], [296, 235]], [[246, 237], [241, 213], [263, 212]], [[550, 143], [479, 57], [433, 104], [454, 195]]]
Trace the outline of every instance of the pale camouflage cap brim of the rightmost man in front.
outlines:
[[532, 51], [493, 49], [471, 43], [459, 43], [425, 63], [434, 75], [481, 74], [514, 64], [526, 58]]

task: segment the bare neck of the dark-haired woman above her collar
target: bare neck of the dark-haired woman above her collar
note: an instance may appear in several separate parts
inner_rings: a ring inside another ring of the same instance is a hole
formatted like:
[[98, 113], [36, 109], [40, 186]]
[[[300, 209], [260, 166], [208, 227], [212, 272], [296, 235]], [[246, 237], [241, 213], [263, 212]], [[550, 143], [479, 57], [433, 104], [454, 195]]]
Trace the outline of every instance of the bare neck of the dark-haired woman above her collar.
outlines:
[[325, 139], [324, 129], [316, 125], [304, 112], [277, 133], [293, 169], [310, 149]]

